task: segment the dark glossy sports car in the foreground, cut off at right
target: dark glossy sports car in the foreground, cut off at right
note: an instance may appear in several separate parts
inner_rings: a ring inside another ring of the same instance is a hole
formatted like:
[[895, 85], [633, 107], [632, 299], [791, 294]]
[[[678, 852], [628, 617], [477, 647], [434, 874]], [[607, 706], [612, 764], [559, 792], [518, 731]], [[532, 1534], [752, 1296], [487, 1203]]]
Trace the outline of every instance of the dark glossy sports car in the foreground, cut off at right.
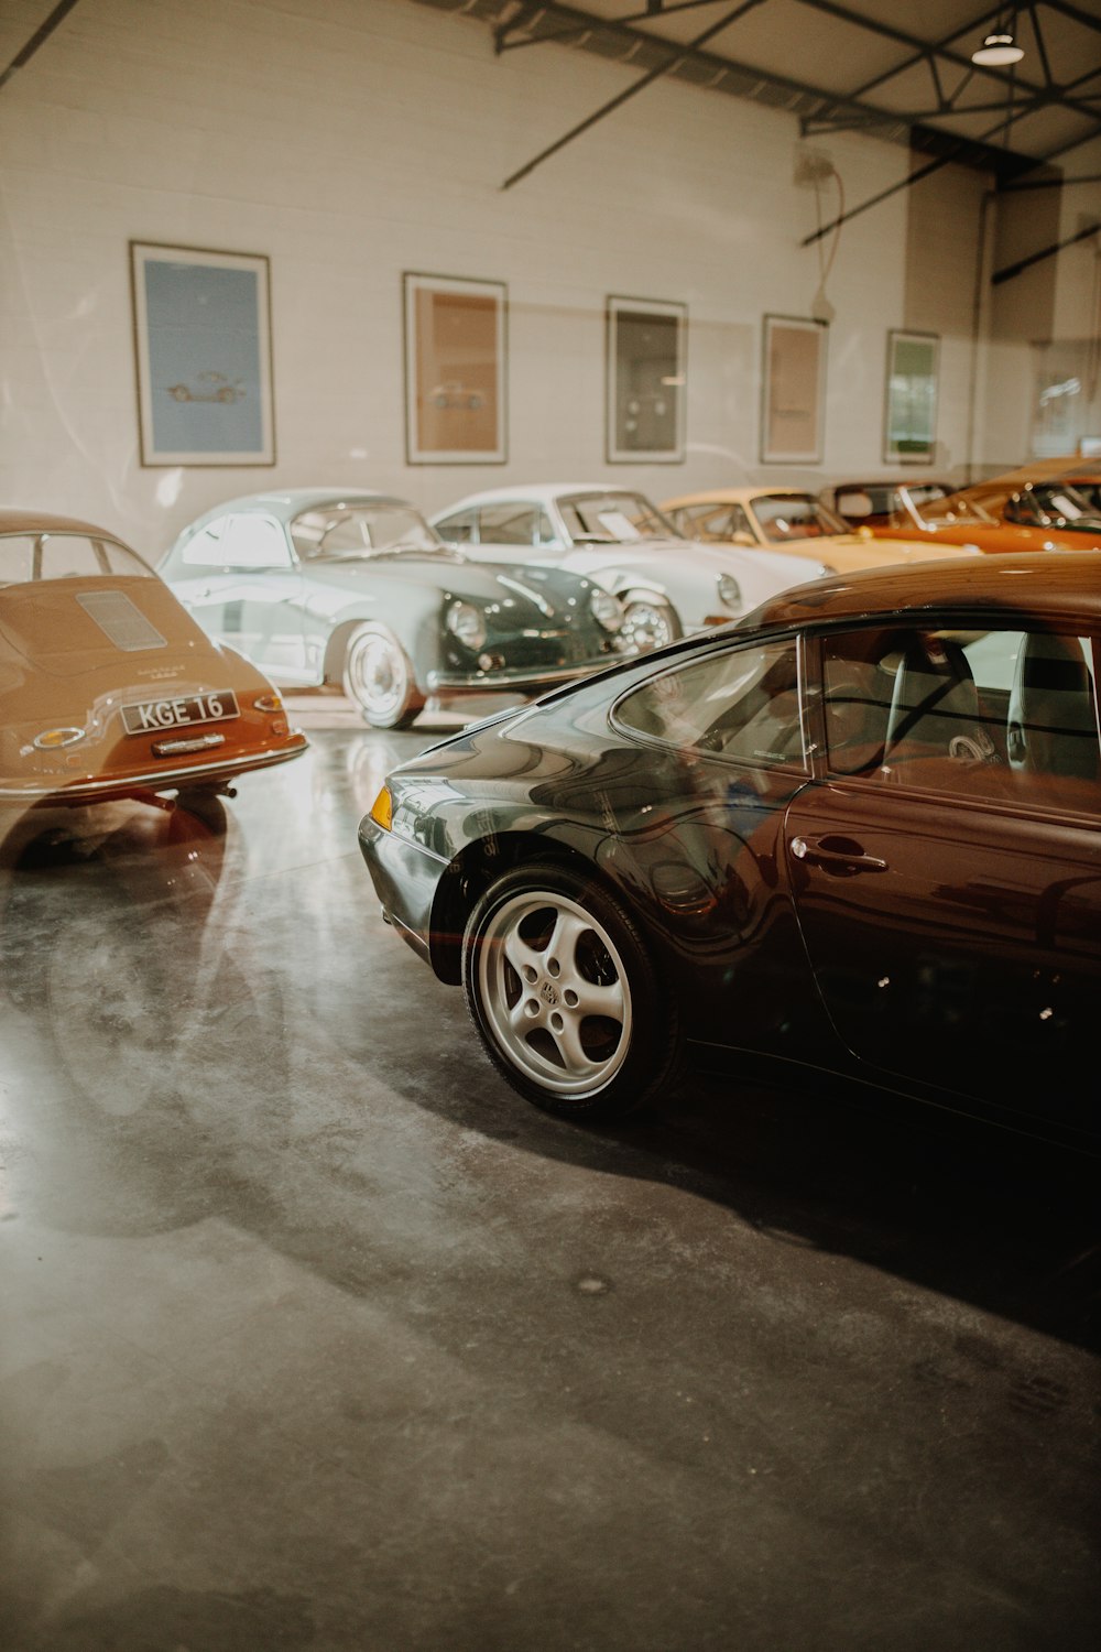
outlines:
[[401, 763], [360, 846], [555, 1113], [773, 1057], [1098, 1151], [1099, 657], [1099, 553], [815, 580]]

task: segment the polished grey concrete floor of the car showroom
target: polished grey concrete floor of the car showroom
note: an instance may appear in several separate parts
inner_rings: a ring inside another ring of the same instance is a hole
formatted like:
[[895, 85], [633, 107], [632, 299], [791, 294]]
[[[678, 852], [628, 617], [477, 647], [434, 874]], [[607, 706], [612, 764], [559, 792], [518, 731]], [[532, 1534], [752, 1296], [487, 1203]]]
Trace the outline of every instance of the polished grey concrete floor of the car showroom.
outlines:
[[703, 1077], [541, 1117], [358, 854], [432, 730], [299, 705], [224, 831], [0, 869], [0, 1645], [1093, 1652], [1093, 1175]]

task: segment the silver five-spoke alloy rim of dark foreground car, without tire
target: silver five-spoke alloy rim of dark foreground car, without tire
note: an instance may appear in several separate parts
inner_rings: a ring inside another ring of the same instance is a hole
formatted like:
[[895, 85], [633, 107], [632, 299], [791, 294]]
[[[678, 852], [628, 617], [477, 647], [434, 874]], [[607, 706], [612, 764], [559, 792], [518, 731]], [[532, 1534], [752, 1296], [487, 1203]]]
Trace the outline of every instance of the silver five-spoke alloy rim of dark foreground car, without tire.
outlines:
[[607, 1085], [631, 1049], [631, 983], [607, 930], [566, 895], [512, 895], [480, 935], [490, 1036], [523, 1077], [560, 1095]]

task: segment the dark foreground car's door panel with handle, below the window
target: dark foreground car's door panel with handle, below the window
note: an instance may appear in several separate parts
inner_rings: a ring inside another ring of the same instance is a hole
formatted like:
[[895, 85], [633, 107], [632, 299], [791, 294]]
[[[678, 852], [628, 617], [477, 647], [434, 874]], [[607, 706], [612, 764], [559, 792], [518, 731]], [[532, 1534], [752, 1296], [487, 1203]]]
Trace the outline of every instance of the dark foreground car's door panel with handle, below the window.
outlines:
[[817, 988], [855, 1056], [966, 1097], [997, 1074], [1007, 1110], [1084, 1118], [1066, 1075], [1093, 1064], [1096, 823], [1045, 831], [994, 800], [830, 781], [794, 800], [786, 854]]

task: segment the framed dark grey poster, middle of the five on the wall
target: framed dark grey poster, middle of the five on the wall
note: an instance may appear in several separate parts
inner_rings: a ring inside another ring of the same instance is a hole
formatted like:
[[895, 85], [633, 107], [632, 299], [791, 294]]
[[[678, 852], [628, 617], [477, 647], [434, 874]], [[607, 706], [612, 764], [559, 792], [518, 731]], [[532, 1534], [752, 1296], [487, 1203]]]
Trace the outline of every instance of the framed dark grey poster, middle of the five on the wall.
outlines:
[[609, 464], [685, 456], [685, 304], [607, 299]]

